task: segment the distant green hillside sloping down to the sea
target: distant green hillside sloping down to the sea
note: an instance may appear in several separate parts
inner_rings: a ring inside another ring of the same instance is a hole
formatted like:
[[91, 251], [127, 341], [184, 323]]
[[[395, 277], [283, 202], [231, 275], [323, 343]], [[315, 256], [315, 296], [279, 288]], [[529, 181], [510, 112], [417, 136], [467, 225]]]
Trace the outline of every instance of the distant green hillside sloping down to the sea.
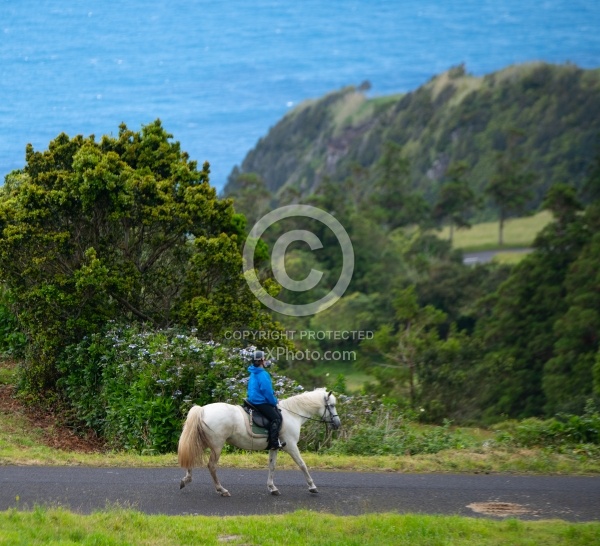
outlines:
[[484, 77], [461, 65], [387, 97], [367, 98], [368, 87], [346, 87], [289, 112], [233, 170], [225, 193], [236, 190], [240, 174], [256, 173], [281, 203], [306, 197], [324, 177], [343, 181], [357, 166], [373, 167], [386, 142], [402, 148], [412, 183], [429, 202], [458, 161], [480, 193], [516, 133], [519, 157], [536, 173], [533, 210], [553, 183], [581, 186], [600, 134], [600, 70], [571, 64], [531, 63]]

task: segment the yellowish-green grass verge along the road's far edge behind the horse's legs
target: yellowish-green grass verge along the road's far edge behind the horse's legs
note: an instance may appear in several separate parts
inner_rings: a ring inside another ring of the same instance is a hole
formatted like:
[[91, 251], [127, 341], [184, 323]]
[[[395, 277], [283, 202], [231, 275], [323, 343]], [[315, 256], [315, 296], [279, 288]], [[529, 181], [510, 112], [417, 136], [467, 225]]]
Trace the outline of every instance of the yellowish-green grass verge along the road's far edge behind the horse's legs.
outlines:
[[[177, 457], [139, 455], [129, 452], [92, 452], [55, 449], [44, 444], [44, 432], [32, 428], [23, 415], [0, 413], [0, 465], [100, 466], [100, 467], [176, 467]], [[472, 434], [476, 434], [476, 431]], [[469, 472], [526, 474], [600, 474], [600, 461], [582, 454], [559, 454], [531, 449], [445, 450], [431, 455], [330, 455], [303, 453], [306, 464], [315, 470], [357, 470], [379, 472]], [[220, 466], [229, 468], [266, 468], [266, 452], [224, 453]], [[286, 454], [278, 467], [295, 469]]]

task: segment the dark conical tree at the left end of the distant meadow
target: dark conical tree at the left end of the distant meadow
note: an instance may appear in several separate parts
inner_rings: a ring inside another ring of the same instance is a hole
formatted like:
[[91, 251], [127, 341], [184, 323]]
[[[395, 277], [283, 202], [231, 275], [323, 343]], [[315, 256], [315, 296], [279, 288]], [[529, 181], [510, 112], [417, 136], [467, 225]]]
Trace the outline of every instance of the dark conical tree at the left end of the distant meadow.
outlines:
[[466, 180], [469, 166], [464, 161], [452, 163], [446, 170], [446, 181], [440, 188], [433, 206], [433, 219], [438, 223], [447, 221], [452, 242], [454, 228], [470, 228], [469, 216], [477, 203], [475, 193]]

